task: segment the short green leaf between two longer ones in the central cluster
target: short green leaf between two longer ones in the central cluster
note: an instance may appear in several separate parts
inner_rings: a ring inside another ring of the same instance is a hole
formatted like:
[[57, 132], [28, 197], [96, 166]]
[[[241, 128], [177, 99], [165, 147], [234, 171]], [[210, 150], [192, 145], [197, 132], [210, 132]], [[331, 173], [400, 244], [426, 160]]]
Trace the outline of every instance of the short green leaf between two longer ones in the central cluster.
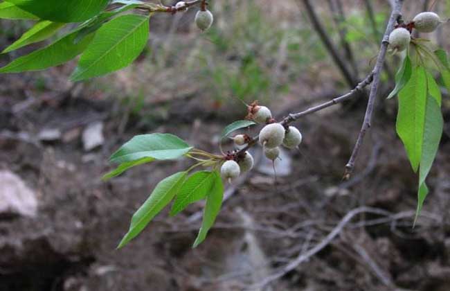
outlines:
[[181, 186], [170, 215], [177, 215], [189, 204], [204, 199], [210, 192], [214, 180], [215, 173], [206, 170], [191, 175]]

